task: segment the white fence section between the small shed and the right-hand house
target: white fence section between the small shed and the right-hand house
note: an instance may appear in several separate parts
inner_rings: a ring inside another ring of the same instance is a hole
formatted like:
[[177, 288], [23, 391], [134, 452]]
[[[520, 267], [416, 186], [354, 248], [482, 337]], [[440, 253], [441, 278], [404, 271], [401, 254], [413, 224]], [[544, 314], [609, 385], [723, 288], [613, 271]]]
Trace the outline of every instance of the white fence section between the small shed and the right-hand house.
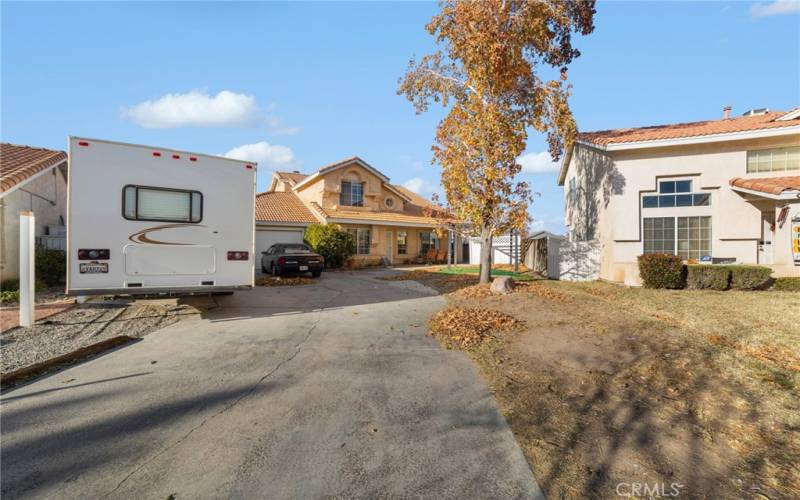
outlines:
[[600, 242], [550, 240], [547, 277], [564, 281], [591, 281], [600, 277]]

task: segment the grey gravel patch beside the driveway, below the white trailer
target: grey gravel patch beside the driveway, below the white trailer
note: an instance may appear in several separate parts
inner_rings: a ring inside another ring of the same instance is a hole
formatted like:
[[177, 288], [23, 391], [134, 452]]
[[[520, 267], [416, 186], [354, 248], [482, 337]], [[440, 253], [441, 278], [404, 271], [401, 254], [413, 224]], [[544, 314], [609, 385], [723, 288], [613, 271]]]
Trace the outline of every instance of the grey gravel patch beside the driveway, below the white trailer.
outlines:
[[31, 328], [3, 332], [0, 371], [18, 370], [118, 335], [142, 337], [197, 314], [199, 311], [189, 305], [164, 301], [76, 305], [37, 321]]

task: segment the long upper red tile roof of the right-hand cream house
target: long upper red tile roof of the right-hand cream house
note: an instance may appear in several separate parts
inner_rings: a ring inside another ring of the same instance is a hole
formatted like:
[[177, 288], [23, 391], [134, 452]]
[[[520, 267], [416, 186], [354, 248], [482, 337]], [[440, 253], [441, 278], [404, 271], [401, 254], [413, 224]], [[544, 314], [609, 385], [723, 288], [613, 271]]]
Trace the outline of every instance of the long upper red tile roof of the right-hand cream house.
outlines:
[[752, 130], [793, 127], [800, 125], [800, 119], [779, 120], [784, 112], [768, 112], [763, 115], [740, 116], [727, 120], [707, 120], [702, 122], [675, 123], [671, 125], [654, 125], [650, 127], [623, 128], [617, 130], [600, 130], [583, 132], [578, 139], [599, 146], [630, 142], [658, 141], [663, 139], [683, 139], [705, 135], [746, 132]]

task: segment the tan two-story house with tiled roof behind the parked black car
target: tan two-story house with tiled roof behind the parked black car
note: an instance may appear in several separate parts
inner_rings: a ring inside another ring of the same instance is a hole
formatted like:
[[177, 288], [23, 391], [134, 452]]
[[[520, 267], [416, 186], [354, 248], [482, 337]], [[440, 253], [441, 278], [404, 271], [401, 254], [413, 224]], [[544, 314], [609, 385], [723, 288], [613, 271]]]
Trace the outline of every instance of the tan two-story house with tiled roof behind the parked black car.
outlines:
[[[432, 248], [447, 252], [442, 228], [454, 222], [440, 207], [353, 157], [313, 174], [273, 174], [267, 191], [256, 196], [256, 254], [274, 243], [302, 241], [310, 224], [339, 224], [356, 239], [350, 265], [414, 263]], [[467, 261], [465, 239], [453, 232], [452, 241], [452, 262]]]

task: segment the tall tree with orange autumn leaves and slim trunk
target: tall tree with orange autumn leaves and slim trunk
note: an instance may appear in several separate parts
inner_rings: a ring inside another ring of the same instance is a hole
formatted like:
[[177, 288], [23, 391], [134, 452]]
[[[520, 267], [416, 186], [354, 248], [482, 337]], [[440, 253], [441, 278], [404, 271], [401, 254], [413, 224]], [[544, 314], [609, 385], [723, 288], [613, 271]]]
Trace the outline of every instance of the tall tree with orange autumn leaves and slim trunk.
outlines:
[[[491, 278], [491, 238], [528, 221], [531, 189], [515, 181], [528, 129], [546, 133], [557, 160], [575, 140], [567, 65], [580, 55], [573, 33], [594, 29], [594, 0], [444, 0], [427, 25], [441, 47], [414, 59], [398, 94], [417, 111], [441, 103], [433, 161], [448, 205], [481, 238], [480, 282]], [[545, 81], [540, 66], [560, 70]]]

